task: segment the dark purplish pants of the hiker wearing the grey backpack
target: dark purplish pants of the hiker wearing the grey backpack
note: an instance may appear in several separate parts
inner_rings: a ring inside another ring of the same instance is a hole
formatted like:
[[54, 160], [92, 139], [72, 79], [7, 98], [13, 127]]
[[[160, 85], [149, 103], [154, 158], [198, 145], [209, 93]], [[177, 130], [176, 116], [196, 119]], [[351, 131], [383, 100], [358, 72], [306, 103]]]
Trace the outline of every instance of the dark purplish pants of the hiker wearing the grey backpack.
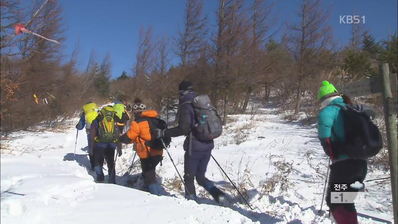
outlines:
[[188, 151], [185, 151], [184, 182], [187, 187], [187, 189], [185, 189], [185, 196], [196, 195], [195, 185], [193, 183], [195, 178], [196, 182], [204, 187], [207, 191], [214, 187], [213, 182], [205, 177], [210, 156], [211, 150], [192, 151], [192, 155], [189, 155]]

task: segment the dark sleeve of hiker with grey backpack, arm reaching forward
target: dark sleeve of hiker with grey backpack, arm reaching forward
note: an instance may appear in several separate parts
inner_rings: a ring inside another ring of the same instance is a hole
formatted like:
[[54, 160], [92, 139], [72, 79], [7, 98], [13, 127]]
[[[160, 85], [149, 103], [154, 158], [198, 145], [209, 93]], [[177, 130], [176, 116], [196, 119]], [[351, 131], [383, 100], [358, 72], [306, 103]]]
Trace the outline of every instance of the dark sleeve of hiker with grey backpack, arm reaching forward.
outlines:
[[164, 130], [164, 137], [178, 137], [188, 135], [191, 131], [193, 107], [191, 104], [182, 104], [179, 109], [178, 126]]

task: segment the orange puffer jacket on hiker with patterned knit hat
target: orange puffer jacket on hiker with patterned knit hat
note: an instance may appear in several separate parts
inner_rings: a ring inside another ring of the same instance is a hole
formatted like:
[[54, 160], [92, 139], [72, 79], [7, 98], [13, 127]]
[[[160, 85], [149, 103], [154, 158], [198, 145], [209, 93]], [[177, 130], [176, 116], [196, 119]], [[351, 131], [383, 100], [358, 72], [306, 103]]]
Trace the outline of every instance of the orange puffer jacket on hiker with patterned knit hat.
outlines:
[[[141, 114], [141, 117], [148, 118], [156, 118], [156, 116], [158, 116], [158, 113], [154, 110], [146, 110]], [[136, 121], [131, 122], [130, 129], [126, 134], [127, 137], [132, 140], [131, 143], [135, 141], [137, 154], [141, 159], [147, 158], [148, 154], [150, 156], [163, 155], [163, 150], [151, 149], [145, 145], [145, 141], [151, 140], [148, 121], [144, 120], [138, 123]]]

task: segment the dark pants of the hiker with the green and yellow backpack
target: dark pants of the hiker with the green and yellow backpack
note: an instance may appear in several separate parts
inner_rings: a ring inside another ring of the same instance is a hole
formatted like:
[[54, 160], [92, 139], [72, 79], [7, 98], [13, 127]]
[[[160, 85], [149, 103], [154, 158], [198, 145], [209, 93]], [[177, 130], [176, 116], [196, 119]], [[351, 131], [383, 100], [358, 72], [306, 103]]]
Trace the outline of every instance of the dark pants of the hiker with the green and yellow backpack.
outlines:
[[109, 173], [109, 183], [115, 183], [115, 148], [113, 147], [94, 147], [94, 166], [97, 173], [97, 181], [102, 182], [104, 180], [102, 167], [104, 159], [106, 160], [106, 165], [108, 167]]

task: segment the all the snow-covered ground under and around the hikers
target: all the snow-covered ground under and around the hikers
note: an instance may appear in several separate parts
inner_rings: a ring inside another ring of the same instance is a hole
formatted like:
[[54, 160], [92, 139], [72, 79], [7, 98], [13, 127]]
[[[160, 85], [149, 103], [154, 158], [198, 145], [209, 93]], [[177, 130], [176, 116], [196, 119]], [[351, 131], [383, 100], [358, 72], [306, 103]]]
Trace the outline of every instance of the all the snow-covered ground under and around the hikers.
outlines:
[[[138, 157], [128, 173], [134, 157], [132, 145], [124, 145], [123, 155], [117, 157], [117, 185], [95, 183], [95, 174], [88, 169], [84, 131], [78, 132], [73, 161], [77, 122], [73, 120], [66, 133], [17, 132], [1, 142], [1, 220], [41, 224], [331, 223], [327, 212], [317, 215], [328, 160], [316, 128], [285, 122], [270, 108], [260, 111], [254, 116], [230, 116], [212, 153], [253, 210], [213, 160], [207, 177], [231, 195], [229, 207], [217, 206], [199, 186], [199, 204], [185, 200], [166, 152], [162, 166], [157, 167], [165, 196], [142, 191]], [[183, 140], [174, 138], [168, 149], [181, 175]], [[106, 165], [104, 169], [107, 175]], [[369, 167], [367, 179], [388, 176], [386, 171]], [[365, 196], [355, 200], [359, 222], [392, 222], [389, 182], [367, 182], [365, 187]], [[325, 203], [322, 209], [327, 210]]]

